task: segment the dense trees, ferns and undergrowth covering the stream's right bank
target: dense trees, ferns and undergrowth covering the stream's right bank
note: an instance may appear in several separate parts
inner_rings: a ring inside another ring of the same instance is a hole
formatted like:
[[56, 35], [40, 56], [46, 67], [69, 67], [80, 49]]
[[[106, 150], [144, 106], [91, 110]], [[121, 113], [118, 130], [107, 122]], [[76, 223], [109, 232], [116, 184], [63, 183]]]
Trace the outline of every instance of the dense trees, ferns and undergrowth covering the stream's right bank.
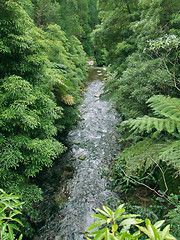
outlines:
[[179, 9], [176, 0], [100, 0], [92, 33], [97, 63], [109, 65], [105, 97], [122, 119], [111, 186], [129, 210], [153, 221], [167, 214], [178, 239]]

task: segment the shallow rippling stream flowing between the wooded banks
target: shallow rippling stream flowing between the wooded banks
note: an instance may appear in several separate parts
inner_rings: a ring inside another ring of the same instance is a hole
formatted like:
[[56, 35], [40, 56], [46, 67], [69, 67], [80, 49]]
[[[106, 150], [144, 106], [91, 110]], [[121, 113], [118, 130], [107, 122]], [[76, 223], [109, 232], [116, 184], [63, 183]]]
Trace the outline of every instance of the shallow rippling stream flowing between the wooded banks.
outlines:
[[94, 221], [90, 215], [113, 196], [107, 190], [107, 179], [100, 174], [118, 149], [114, 127], [118, 122], [117, 113], [100, 98], [104, 77], [102, 68], [90, 67], [87, 92], [79, 106], [82, 119], [69, 133], [69, 150], [63, 156], [66, 164], [73, 165], [73, 173], [64, 171], [69, 180], [53, 193], [56, 200], [62, 200], [64, 196], [68, 201], [61, 202], [59, 211], [40, 229], [35, 239], [83, 239], [83, 232]]

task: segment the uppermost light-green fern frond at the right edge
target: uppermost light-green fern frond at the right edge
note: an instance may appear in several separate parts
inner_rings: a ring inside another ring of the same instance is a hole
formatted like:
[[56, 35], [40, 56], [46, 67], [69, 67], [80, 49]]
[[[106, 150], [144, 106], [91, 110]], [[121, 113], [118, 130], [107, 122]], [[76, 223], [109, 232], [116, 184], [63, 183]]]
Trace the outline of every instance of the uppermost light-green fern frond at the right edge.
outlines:
[[155, 95], [147, 103], [155, 113], [180, 123], [180, 99]]

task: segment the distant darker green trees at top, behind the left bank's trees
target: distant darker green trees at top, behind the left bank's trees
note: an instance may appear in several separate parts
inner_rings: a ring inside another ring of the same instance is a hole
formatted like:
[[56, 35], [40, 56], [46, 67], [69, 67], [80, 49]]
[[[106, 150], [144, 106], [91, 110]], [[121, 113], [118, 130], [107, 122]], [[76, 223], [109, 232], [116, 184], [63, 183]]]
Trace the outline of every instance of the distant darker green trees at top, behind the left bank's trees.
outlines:
[[76, 36], [88, 55], [93, 54], [90, 32], [98, 22], [97, 0], [33, 1], [38, 26], [58, 24], [68, 37]]

